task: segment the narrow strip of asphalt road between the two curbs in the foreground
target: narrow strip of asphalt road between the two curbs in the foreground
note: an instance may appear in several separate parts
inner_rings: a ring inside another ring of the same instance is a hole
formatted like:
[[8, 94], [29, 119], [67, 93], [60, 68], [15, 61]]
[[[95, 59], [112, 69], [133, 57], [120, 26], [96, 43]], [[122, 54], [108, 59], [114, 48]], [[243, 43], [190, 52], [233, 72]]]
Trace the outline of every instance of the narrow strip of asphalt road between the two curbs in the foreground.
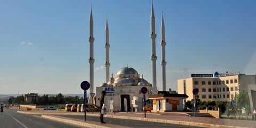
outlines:
[[[64, 116], [69, 118], [76, 118], [76, 119], [83, 119], [84, 116], [81, 115], [58, 115], [58, 116]], [[100, 117], [97, 116], [86, 116], [86, 121], [92, 121], [95, 123], [100, 122]], [[117, 119], [117, 118], [107, 118], [104, 117], [104, 121], [108, 124], [114, 124], [114, 125], [121, 125], [121, 126], [127, 126], [127, 127], [135, 127], [135, 128], [151, 128], [151, 127], [192, 127], [192, 126], [186, 126], [186, 125], [178, 125], [178, 124], [167, 124], [167, 123], [156, 123], [156, 122], [146, 122], [146, 121], [135, 121], [131, 119]]]

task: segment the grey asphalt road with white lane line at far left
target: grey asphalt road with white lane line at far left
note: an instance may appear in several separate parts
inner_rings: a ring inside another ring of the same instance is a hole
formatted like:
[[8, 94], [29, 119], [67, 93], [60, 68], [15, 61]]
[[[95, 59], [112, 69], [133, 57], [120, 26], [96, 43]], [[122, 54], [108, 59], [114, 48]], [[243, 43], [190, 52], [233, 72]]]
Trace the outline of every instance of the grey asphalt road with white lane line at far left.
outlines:
[[17, 113], [17, 108], [4, 108], [4, 112], [0, 113], [0, 127], [8, 128], [34, 128], [34, 127], [80, 127], [77, 125], [70, 125], [55, 121], [50, 121], [49, 119], [44, 119], [41, 115], [27, 115]]

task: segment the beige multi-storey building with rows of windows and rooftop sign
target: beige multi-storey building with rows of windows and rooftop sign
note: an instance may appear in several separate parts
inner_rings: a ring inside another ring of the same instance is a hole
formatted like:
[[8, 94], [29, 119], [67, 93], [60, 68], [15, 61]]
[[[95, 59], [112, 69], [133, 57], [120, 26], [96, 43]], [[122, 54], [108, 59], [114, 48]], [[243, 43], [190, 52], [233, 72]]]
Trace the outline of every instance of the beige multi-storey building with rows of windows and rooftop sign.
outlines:
[[247, 91], [248, 84], [256, 83], [256, 75], [239, 73], [191, 74], [190, 78], [178, 79], [178, 93], [187, 94], [188, 99], [194, 99], [193, 89], [198, 89], [197, 97], [202, 101], [217, 99], [230, 101], [239, 92]]

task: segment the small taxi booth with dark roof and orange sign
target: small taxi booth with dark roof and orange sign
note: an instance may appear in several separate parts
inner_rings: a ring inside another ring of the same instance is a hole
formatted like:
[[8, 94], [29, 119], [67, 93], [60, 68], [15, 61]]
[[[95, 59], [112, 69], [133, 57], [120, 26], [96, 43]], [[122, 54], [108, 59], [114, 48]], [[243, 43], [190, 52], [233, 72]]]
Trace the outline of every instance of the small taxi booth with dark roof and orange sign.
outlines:
[[188, 98], [186, 94], [170, 94], [170, 92], [161, 91], [158, 94], [149, 96], [149, 100], [153, 101], [152, 112], [165, 111], [183, 111], [183, 101]]

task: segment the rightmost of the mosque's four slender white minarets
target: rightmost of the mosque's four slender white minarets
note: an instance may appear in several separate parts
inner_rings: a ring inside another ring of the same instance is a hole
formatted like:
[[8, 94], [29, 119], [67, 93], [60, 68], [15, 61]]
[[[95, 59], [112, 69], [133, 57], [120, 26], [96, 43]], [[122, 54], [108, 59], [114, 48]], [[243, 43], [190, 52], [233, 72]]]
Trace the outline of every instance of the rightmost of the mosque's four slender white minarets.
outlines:
[[165, 76], [165, 30], [164, 30], [164, 14], [162, 13], [162, 23], [161, 23], [161, 65], [162, 65], [162, 85], [163, 85], [163, 91], [166, 91], [166, 76]]

